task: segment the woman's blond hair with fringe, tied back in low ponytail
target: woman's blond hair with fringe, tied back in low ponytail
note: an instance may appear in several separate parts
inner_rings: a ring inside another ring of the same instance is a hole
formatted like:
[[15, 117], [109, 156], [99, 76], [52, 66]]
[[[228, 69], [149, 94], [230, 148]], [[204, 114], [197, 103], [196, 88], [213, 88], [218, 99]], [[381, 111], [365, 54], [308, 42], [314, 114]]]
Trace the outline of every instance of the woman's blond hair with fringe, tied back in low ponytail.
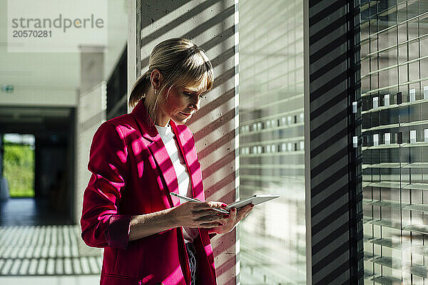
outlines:
[[[148, 96], [151, 73], [155, 69], [163, 76], [162, 86], [158, 92]], [[148, 71], [137, 79], [131, 89], [128, 104], [134, 107], [141, 98], [146, 98], [148, 113], [154, 122], [159, 100], [163, 103], [161, 94], [165, 90], [173, 86], [188, 88], [205, 86], [208, 91], [213, 88], [213, 81], [213, 66], [203, 49], [187, 38], [170, 38], [153, 48], [148, 61]]]

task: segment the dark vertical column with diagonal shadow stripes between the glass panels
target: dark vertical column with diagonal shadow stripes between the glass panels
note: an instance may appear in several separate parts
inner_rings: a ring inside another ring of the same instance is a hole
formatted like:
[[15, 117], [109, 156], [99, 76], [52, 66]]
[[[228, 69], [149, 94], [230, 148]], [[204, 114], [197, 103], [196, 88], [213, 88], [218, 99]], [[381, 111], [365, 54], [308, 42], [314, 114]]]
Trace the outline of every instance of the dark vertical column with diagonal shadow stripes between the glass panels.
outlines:
[[308, 284], [363, 283], [361, 147], [352, 143], [359, 138], [361, 113], [359, 106], [352, 110], [360, 96], [358, 3], [309, 1], [306, 6]]

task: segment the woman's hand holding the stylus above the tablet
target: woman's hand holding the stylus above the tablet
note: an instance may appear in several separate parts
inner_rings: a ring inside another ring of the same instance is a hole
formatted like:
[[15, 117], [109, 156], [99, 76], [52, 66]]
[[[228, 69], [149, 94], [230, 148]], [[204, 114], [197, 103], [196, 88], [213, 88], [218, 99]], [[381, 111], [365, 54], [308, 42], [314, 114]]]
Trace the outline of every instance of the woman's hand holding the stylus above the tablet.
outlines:
[[224, 209], [226, 206], [223, 202], [185, 202], [174, 207], [171, 214], [176, 227], [220, 227], [230, 217], [215, 209]]

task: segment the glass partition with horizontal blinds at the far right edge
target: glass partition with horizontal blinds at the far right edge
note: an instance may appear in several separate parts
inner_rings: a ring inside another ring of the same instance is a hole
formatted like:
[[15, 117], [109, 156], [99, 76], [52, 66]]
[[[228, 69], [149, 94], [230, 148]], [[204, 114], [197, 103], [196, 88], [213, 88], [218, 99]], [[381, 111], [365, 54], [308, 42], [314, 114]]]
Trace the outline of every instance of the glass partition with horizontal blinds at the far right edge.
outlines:
[[365, 284], [428, 284], [428, 1], [362, 1]]

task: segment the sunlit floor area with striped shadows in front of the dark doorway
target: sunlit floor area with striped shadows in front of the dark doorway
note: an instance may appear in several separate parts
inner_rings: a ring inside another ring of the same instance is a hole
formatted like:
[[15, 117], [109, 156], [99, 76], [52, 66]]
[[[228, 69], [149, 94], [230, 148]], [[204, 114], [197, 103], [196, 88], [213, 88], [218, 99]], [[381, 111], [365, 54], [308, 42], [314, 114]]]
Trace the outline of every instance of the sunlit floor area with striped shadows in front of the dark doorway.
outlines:
[[0, 227], [0, 276], [98, 276], [100, 264], [78, 226]]

